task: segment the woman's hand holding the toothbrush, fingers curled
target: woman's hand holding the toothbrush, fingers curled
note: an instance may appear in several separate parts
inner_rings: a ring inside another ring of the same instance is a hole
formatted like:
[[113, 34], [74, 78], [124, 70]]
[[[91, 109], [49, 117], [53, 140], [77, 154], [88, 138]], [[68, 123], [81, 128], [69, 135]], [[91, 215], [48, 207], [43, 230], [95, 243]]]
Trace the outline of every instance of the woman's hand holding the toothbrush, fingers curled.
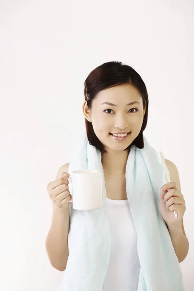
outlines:
[[[167, 225], [181, 222], [185, 213], [185, 200], [183, 195], [177, 190], [175, 182], [164, 184], [161, 189], [159, 210], [162, 218]], [[175, 217], [174, 210], [177, 211], [178, 217]]]

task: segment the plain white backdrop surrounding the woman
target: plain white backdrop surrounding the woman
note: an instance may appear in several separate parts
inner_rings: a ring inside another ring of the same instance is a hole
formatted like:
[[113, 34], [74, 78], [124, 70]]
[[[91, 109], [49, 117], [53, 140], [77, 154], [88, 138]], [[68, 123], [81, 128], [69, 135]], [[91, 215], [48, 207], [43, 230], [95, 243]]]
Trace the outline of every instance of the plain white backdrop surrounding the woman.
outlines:
[[121, 61], [146, 83], [145, 135], [178, 168], [194, 291], [194, 1], [0, 0], [0, 291], [56, 291], [47, 185], [85, 129], [83, 83]]

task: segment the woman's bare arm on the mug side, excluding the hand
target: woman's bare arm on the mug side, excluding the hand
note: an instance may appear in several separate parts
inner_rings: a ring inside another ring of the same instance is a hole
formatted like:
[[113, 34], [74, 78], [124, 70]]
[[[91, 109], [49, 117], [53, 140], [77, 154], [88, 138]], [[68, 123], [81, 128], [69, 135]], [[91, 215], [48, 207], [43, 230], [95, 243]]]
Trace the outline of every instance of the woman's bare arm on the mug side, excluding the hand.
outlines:
[[[68, 172], [69, 163], [63, 165], [56, 179], [59, 179], [62, 172]], [[53, 203], [52, 223], [46, 239], [46, 250], [51, 265], [59, 270], [65, 271], [69, 255], [68, 251], [69, 232], [69, 208], [58, 208]]]

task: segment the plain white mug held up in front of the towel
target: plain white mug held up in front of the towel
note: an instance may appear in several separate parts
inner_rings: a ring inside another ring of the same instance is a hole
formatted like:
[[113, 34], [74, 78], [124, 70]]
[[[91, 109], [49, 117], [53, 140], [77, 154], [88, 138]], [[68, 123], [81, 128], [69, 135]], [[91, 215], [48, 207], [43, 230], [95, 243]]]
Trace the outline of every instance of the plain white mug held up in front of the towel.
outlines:
[[72, 182], [73, 209], [94, 210], [103, 205], [102, 173], [100, 170], [77, 170], [72, 177], [65, 178]]

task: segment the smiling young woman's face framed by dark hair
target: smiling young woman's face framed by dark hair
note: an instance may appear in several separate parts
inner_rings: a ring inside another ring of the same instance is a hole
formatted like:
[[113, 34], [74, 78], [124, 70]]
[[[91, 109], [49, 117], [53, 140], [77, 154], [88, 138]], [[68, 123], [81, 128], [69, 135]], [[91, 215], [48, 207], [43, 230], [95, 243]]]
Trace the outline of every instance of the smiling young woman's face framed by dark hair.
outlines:
[[[109, 102], [111, 104], [102, 104]], [[128, 105], [131, 102], [135, 102]], [[131, 84], [119, 85], [98, 93], [88, 110], [86, 101], [83, 112], [88, 121], [92, 122], [94, 132], [105, 149], [116, 151], [126, 149], [138, 136], [145, 111], [139, 91]], [[111, 133], [130, 132], [126, 139], [116, 140]]]

